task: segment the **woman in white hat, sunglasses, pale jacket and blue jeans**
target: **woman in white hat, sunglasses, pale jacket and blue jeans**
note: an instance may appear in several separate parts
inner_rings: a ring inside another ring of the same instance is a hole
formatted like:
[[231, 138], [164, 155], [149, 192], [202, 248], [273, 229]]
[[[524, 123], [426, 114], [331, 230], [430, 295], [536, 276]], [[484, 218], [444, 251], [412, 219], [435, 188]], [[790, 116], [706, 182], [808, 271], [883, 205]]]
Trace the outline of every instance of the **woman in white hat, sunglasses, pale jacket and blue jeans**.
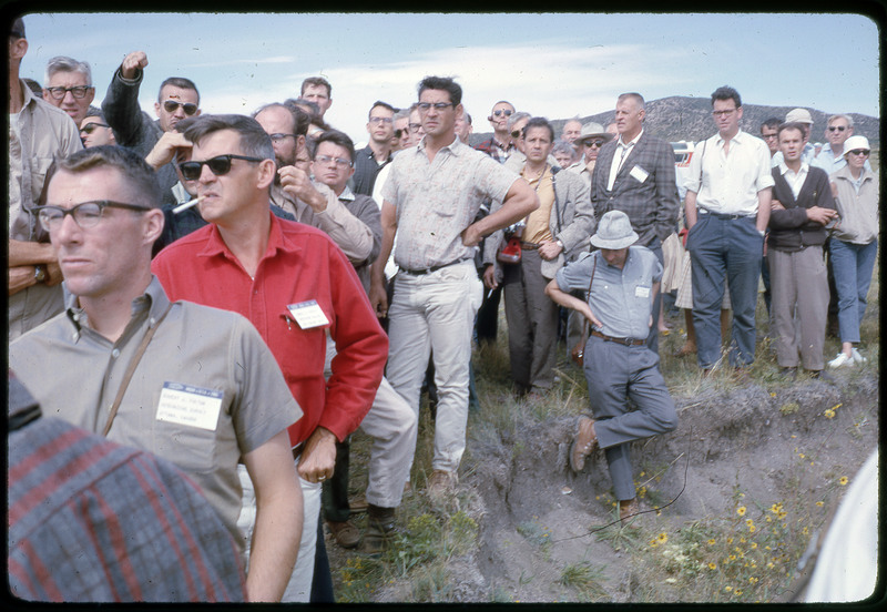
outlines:
[[840, 353], [828, 363], [832, 368], [866, 361], [854, 345], [860, 340], [859, 323], [866, 312], [866, 295], [878, 254], [878, 175], [865, 167], [870, 153], [868, 139], [850, 136], [844, 143], [847, 165], [830, 176], [840, 215], [829, 241], [840, 334]]

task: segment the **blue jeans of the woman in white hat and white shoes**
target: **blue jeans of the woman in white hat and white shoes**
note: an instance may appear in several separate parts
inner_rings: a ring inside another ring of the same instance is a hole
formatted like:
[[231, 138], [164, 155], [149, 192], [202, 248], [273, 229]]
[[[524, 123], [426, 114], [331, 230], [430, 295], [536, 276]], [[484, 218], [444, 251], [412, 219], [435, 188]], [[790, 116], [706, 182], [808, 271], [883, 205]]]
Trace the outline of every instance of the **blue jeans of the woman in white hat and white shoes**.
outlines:
[[829, 241], [835, 286], [838, 290], [838, 328], [842, 343], [859, 341], [859, 323], [866, 313], [866, 296], [878, 254], [878, 241], [853, 244]]

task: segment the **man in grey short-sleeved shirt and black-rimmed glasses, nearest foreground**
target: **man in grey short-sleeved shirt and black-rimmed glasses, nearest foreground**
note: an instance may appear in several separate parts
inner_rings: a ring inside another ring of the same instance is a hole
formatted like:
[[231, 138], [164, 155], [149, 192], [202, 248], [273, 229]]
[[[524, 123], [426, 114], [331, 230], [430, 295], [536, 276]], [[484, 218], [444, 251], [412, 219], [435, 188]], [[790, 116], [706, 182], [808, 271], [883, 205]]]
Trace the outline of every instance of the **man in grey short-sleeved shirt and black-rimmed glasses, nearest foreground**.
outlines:
[[[286, 428], [302, 411], [248, 320], [172, 303], [152, 276], [163, 227], [153, 170], [120, 146], [57, 163], [35, 216], [71, 296], [62, 314], [10, 344], [10, 367], [47, 414], [184, 470], [237, 543], [216, 554], [246, 552], [237, 528], [243, 462], [258, 498], [247, 595], [279, 601], [302, 527]], [[113, 530], [113, 516], [103, 517]]]

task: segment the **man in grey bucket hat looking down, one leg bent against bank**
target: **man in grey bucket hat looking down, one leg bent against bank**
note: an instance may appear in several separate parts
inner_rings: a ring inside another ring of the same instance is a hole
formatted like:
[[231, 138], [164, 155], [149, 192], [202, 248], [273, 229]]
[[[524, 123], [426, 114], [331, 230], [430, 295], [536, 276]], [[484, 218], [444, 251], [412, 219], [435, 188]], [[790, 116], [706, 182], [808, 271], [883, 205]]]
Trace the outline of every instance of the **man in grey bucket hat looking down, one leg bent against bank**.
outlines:
[[[646, 346], [662, 264], [645, 246], [632, 246], [636, 241], [625, 213], [605, 213], [591, 237], [600, 251], [558, 271], [546, 288], [590, 325], [583, 367], [597, 419], [579, 417], [570, 468], [581, 471], [585, 457], [603, 448], [622, 520], [638, 512], [629, 442], [677, 426], [659, 355]], [[570, 295], [574, 289], [588, 292], [588, 300]], [[636, 410], [629, 411], [629, 399]]]

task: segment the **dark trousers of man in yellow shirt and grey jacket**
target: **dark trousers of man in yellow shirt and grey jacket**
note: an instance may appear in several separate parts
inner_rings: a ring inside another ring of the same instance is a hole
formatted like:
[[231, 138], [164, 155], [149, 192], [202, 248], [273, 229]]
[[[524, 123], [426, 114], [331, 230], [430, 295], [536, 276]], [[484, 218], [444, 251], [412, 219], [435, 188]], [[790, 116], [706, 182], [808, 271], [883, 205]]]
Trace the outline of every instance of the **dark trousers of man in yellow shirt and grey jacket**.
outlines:
[[518, 391], [550, 389], [558, 348], [558, 305], [546, 295], [538, 251], [523, 251], [503, 269], [508, 351]]

